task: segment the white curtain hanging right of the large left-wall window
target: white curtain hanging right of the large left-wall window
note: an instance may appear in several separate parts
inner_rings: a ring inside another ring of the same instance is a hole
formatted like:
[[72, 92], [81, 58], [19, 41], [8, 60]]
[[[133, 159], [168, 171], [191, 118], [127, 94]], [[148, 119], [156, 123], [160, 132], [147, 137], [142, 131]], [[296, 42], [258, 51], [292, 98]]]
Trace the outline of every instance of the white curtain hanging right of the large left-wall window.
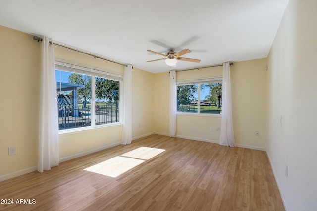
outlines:
[[132, 141], [132, 65], [124, 68], [123, 80], [123, 129], [121, 144], [131, 144]]

